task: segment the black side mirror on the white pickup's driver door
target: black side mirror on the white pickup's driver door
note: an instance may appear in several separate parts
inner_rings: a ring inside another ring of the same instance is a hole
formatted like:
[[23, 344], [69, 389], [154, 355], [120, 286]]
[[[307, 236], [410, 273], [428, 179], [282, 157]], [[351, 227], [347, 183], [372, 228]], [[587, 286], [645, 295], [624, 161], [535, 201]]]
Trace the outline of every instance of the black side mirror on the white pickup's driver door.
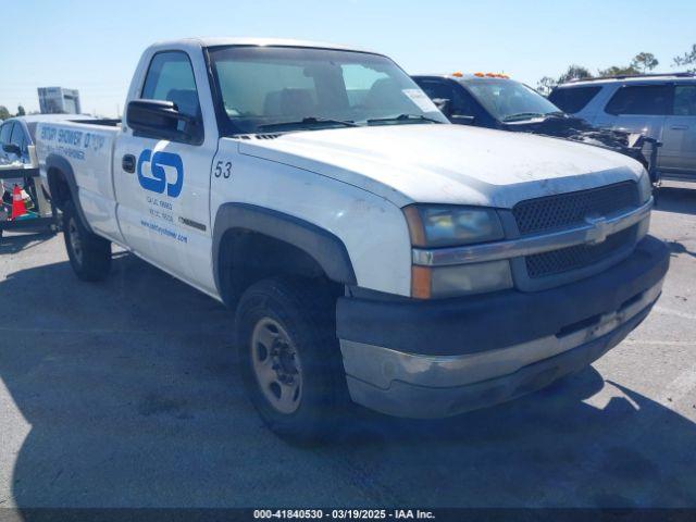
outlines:
[[202, 140], [197, 119], [179, 112], [173, 101], [133, 100], [128, 103], [126, 123], [148, 137], [186, 142]]

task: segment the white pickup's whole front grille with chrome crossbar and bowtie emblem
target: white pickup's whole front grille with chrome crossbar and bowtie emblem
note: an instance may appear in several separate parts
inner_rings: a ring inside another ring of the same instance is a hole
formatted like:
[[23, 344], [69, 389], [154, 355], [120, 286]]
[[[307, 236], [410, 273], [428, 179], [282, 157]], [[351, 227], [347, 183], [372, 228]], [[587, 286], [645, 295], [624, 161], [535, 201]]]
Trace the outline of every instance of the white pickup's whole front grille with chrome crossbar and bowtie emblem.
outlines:
[[589, 277], [633, 252], [647, 234], [652, 198], [633, 182], [548, 196], [498, 210], [506, 238], [447, 248], [413, 248], [417, 266], [508, 260], [514, 286], [537, 291]]

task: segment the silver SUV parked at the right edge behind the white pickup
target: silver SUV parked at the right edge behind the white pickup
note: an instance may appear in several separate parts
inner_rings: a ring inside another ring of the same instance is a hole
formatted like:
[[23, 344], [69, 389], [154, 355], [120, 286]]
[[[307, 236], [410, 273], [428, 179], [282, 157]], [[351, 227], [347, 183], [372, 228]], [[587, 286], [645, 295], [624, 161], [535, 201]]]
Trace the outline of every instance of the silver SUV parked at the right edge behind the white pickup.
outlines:
[[696, 74], [574, 80], [556, 87], [549, 100], [598, 127], [656, 138], [661, 177], [696, 182]]

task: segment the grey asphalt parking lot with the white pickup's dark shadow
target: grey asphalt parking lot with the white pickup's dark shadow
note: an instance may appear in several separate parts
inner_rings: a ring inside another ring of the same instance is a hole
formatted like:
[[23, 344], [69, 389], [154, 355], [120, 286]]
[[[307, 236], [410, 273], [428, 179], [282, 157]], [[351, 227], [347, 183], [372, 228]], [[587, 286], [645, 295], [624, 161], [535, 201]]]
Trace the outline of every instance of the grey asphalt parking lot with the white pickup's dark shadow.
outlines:
[[62, 236], [5, 235], [0, 507], [694, 507], [696, 189], [663, 188], [651, 233], [663, 295], [592, 368], [443, 421], [355, 408], [319, 448], [263, 427], [216, 301], [125, 252], [82, 283]]

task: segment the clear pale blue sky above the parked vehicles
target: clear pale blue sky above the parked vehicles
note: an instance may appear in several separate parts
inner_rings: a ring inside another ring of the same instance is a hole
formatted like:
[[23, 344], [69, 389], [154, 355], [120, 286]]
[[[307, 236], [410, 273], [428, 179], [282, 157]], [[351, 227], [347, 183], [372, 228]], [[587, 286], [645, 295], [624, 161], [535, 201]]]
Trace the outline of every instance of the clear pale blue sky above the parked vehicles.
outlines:
[[694, 0], [0, 0], [0, 105], [38, 110], [37, 87], [79, 90], [83, 112], [123, 111], [150, 44], [199, 36], [298, 38], [380, 51], [407, 72], [505, 72], [536, 86], [696, 44]]

